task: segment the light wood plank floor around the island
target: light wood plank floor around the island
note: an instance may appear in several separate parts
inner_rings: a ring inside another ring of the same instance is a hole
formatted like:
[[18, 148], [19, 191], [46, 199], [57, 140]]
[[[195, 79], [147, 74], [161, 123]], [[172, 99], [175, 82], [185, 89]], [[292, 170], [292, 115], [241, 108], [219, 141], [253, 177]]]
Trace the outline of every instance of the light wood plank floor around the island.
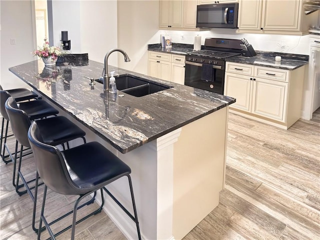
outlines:
[[[183, 239], [320, 239], [319, 116], [318, 109], [313, 120], [298, 120], [282, 130], [230, 113], [226, 184], [220, 203]], [[32, 177], [32, 155], [24, 162]], [[11, 176], [12, 163], [1, 162], [0, 238], [35, 239], [30, 197], [15, 193]], [[49, 192], [47, 214], [54, 218], [71, 209], [72, 200]], [[95, 203], [88, 206], [94, 207]], [[78, 224], [76, 234], [76, 239], [125, 239], [104, 212]], [[67, 231], [58, 239], [69, 235]], [[44, 231], [41, 239], [47, 237]]]

